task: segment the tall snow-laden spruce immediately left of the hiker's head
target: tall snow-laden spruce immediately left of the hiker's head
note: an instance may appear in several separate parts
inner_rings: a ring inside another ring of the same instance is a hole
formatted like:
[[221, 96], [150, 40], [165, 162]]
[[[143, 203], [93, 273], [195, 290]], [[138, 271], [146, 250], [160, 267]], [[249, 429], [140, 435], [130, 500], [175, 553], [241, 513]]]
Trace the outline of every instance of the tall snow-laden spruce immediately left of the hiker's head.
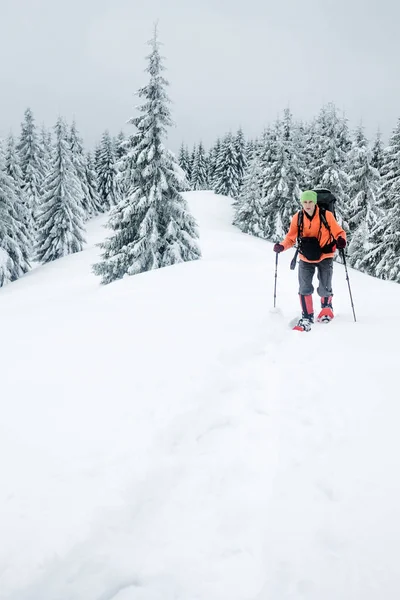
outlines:
[[294, 125], [289, 109], [276, 124], [275, 160], [265, 172], [265, 231], [270, 240], [281, 240], [299, 210], [299, 180], [304, 178], [294, 145]]

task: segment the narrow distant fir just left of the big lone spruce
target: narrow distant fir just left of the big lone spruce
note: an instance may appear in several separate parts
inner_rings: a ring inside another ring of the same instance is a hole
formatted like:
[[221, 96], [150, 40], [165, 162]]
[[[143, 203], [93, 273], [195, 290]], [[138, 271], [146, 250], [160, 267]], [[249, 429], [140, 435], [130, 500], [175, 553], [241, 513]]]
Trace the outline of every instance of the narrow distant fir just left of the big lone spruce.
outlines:
[[120, 199], [115, 145], [109, 131], [103, 133], [97, 156], [96, 170], [100, 201], [106, 211], [115, 206]]

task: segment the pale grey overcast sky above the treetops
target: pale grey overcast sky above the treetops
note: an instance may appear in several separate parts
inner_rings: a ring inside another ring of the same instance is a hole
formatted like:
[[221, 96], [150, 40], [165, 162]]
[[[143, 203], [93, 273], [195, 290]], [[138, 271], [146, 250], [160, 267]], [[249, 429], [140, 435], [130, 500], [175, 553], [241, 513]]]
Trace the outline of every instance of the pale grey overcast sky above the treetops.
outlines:
[[86, 145], [132, 130], [158, 19], [177, 150], [242, 126], [258, 135], [289, 106], [333, 101], [385, 140], [400, 117], [397, 0], [0, 0], [0, 136], [76, 119]]

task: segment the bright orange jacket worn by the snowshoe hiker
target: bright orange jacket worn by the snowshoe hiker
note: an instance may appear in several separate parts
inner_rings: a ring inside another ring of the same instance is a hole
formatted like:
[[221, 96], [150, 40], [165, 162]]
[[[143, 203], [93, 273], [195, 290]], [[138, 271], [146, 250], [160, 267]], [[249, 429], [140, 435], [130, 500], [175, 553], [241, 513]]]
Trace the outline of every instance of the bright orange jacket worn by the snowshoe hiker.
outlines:
[[[332, 233], [333, 237], [335, 238], [335, 240], [337, 240], [337, 238], [339, 236], [346, 239], [346, 233], [340, 227], [339, 223], [336, 221], [335, 217], [333, 216], [333, 213], [331, 213], [329, 210], [325, 211], [325, 218], [327, 220], [327, 223], [331, 229], [331, 233]], [[297, 234], [298, 234], [297, 220], [298, 220], [298, 213], [296, 213], [292, 217], [289, 231], [288, 231], [285, 239], [283, 240], [283, 242], [281, 242], [281, 244], [285, 250], [288, 250], [289, 248], [294, 246], [297, 241]], [[330, 237], [329, 231], [327, 230], [327, 228], [323, 225], [323, 223], [320, 223], [319, 206], [318, 205], [315, 206], [315, 213], [314, 213], [314, 216], [311, 219], [311, 221], [310, 221], [307, 213], [305, 211], [303, 211], [303, 237], [316, 237], [317, 238], [319, 235], [320, 225], [321, 225], [320, 246], [322, 248], [323, 246], [325, 246], [325, 244], [329, 244], [332, 241], [332, 238]], [[333, 256], [335, 256], [335, 252], [330, 252], [329, 254], [321, 254], [321, 258], [319, 260], [308, 260], [307, 258], [305, 258], [305, 256], [300, 254], [300, 259], [304, 260], [304, 262], [319, 263], [319, 262], [321, 262], [321, 260], [324, 260], [325, 258], [332, 258]]]

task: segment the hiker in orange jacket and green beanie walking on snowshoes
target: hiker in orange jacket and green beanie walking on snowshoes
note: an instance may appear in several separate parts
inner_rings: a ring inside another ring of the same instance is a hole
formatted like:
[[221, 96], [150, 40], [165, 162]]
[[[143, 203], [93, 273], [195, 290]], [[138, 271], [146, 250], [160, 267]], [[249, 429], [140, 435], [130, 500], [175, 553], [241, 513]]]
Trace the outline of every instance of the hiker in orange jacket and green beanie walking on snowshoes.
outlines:
[[325, 219], [320, 215], [316, 192], [306, 190], [301, 194], [300, 202], [303, 208], [301, 226], [299, 227], [299, 213], [296, 213], [285, 239], [274, 245], [274, 251], [282, 252], [291, 248], [299, 238], [299, 296], [302, 317], [295, 329], [309, 331], [314, 322], [312, 281], [316, 269], [319, 280], [317, 292], [321, 298], [321, 312], [317, 318], [319, 321], [330, 321], [333, 318], [333, 257], [336, 248], [345, 248], [346, 233], [332, 212], [324, 211]]

